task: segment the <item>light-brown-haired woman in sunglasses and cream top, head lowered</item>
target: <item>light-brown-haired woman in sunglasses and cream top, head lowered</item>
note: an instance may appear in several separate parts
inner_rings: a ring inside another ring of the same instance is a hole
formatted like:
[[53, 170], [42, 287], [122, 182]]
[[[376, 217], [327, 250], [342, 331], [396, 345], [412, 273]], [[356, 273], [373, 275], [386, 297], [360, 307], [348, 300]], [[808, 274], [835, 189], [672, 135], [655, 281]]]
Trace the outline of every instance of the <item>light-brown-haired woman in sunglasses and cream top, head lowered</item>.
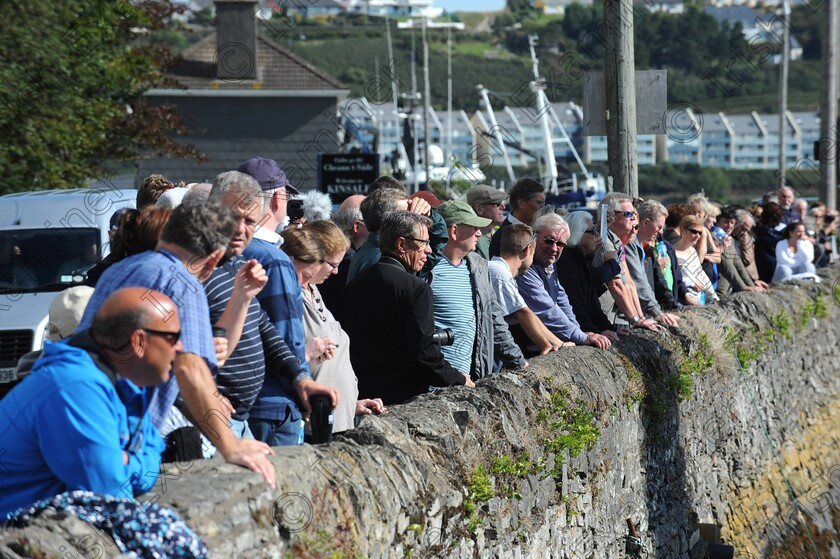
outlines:
[[379, 398], [358, 400], [358, 381], [350, 363], [350, 337], [324, 306], [318, 291], [318, 285], [338, 271], [350, 242], [329, 221], [289, 227], [281, 235], [283, 251], [292, 258], [303, 292], [306, 361], [313, 379], [339, 392], [333, 433], [347, 431], [354, 427], [355, 416], [387, 411]]

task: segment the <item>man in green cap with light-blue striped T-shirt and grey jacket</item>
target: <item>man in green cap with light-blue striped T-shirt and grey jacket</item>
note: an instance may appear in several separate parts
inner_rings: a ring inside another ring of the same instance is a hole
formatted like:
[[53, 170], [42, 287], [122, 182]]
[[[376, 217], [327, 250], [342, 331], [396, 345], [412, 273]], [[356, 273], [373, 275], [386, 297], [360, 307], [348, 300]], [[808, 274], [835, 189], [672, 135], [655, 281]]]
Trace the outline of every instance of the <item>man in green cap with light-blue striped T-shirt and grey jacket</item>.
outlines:
[[450, 328], [455, 335], [452, 345], [442, 347], [444, 357], [473, 380], [502, 366], [526, 367], [493, 292], [487, 261], [475, 252], [481, 228], [490, 220], [460, 200], [445, 202], [437, 211], [446, 222], [447, 241], [432, 270], [435, 328]]

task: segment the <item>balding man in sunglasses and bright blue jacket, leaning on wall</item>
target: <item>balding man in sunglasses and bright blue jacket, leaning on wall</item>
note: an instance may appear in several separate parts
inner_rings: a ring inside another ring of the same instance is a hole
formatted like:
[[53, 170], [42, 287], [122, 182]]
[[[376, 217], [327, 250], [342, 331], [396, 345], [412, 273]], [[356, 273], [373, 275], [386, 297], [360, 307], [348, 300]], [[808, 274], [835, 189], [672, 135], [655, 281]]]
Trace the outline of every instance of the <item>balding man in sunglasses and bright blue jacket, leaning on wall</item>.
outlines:
[[0, 518], [65, 491], [149, 491], [164, 444], [145, 413], [145, 387], [169, 379], [180, 338], [177, 305], [132, 287], [111, 294], [89, 329], [47, 343], [0, 401]]

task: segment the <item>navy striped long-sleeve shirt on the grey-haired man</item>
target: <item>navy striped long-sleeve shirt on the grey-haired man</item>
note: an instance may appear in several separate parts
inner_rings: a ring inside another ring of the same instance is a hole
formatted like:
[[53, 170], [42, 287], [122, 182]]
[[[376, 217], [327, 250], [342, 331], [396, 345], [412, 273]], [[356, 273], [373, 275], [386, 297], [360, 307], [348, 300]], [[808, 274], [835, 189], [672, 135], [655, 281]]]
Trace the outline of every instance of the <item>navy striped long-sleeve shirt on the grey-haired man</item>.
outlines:
[[[236, 272], [245, 264], [235, 256], [216, 268], [204, 290], [210, 304], [210, 322], [215, 324], [230, 300]], [[224, 367], [219, 369], [216, 385], [236, 410], [233, 418], [244, 421], [263, 386], [265, 373], [285, 378], [291, 383], [309, 373], [289, 349], [256, 298], [248, 306], [242, 335]]]

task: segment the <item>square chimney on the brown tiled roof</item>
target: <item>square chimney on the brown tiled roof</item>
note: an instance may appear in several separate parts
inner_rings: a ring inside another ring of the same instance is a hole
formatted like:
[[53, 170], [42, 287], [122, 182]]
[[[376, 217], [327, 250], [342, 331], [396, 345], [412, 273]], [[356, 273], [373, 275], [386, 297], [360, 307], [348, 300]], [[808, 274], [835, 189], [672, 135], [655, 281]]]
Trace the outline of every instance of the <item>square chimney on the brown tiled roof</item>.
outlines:
[[216, 77], [257, 79], [257, 0], [216, 0]]

